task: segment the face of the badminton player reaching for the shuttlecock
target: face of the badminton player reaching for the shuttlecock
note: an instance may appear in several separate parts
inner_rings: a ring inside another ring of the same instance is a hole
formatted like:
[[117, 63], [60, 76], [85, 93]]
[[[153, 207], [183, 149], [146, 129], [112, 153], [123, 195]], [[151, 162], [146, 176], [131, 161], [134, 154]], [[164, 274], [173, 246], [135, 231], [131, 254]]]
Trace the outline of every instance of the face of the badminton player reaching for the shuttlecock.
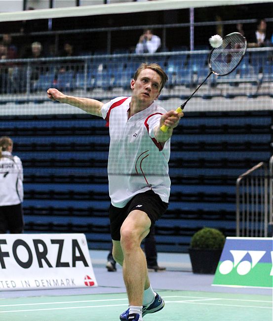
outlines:
[[149, 107], [159, 96], [161, 77], [152, 69], [144, 69], [138, 75], [137, 80], [131, 81], [132, 96], [136, 101]]

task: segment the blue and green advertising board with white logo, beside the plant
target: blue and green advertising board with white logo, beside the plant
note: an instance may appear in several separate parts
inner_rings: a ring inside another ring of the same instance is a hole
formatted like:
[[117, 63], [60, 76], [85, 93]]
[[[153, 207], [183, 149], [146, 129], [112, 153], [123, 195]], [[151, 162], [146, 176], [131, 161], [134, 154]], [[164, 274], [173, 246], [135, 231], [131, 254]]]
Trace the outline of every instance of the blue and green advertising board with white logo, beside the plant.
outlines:
[[227, 238], [212, 285], [273, 287], [273, 238]]

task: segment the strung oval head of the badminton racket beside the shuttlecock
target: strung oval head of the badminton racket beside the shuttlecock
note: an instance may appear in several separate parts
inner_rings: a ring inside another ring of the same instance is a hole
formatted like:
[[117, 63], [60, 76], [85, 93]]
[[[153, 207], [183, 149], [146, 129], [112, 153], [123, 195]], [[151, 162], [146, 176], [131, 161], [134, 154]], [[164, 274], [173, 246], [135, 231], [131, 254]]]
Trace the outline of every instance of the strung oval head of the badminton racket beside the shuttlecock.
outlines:
[[209, 69], [214, 75], [226, 76], [234, 71], [246, 52], [246, 39], [238, 32], [223, 38], [220, 47], [214, 48], [209, 55]]

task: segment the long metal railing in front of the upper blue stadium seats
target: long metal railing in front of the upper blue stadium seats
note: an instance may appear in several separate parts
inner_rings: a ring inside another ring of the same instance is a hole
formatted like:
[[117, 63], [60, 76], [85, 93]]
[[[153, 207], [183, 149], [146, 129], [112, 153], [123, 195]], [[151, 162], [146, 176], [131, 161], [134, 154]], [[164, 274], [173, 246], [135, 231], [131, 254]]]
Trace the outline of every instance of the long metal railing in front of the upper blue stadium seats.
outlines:
[[[197, 95], [206, 94], [210, 98], [213, 94], [271, 95], [271, 49], [249, 49], [247, 56], [232, 74], [227, 77], [212, 75]], [[191, 92], [209, 73], [209, 52], [196, 50], [160, 52], [153, 55], [115, 54], [1, 60], [0, 94], [40, 94], [48, 87], [57, 86], [60, 90], [84, 92], [96, 92], [97, 89], [103, 88], [104, 95], [112, 97], [111, 90], [118, 87], [127, 88], [136, 68], [145, 61], [157, 62], [166, 71], [169, 81], [166, 86], [168, 90], [164, 92], [168, 96], [180, 97], [182, 93], [188, 96], [188, 91]], [[2, 99], [6, 97], [1, 95], [0, 100]]]

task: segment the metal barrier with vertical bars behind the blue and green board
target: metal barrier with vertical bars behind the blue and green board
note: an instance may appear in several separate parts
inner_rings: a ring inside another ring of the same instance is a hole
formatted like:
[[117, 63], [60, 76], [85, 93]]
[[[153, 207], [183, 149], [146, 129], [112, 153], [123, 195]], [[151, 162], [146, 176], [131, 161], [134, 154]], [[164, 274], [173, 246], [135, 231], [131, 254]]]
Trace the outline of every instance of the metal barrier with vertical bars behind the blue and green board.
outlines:
[[236, 236], [268, 237], [273, 221], [273, 157], [236, 180]]

